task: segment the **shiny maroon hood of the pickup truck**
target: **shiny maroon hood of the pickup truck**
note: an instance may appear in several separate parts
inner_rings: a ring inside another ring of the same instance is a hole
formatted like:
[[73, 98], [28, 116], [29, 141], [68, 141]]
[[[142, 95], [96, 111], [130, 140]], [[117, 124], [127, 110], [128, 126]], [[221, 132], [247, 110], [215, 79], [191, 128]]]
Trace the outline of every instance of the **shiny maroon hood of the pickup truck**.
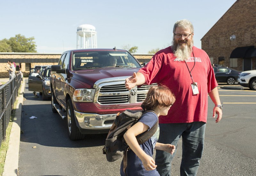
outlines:
[[96, 69], [76, 70], [71, 72], [71, 79], [83, 84], [86, 88], [93, 88], [96, 81], [104, 78], [132, 76], [140, 68], [103, 67]]

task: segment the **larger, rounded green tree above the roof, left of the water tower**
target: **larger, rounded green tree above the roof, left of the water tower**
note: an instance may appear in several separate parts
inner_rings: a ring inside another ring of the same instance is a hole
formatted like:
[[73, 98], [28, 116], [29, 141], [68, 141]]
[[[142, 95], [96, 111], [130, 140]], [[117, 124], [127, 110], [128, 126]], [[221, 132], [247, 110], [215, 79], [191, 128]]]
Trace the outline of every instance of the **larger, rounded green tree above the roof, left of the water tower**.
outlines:
[[17, 34], [8, 40], [8, 44], [12, 47], [12, 52], [20, 53], [36, 53], [35, 38], [26, 38], [24, 35]]

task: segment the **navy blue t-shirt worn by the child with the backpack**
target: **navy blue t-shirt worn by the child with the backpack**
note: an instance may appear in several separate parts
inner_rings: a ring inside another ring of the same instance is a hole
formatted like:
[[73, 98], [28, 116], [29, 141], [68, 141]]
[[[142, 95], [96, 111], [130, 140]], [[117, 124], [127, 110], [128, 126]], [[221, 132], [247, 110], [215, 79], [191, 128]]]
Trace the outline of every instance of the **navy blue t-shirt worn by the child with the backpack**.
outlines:
[[[149, 129], [151, 129], [154, 124], [157, 122], [157, 115], [154, 112], [147, 112], [143, 114], [138, 122], [144, 123], [145, 125], [148, 125]], [[156, 133], [148, 139], [145, 143], [141, 144], [140, 147], [142, 148], [145, 153], [147, 153], [149, 156], [153, 156], [153, 150], [155, 148], [156, 142], [159, 137], [159, 126], [156, 130]], [[124, 170], [123, 170], [123, 161], [121, 163], [120, 167], [120, 174], [121, 176], [125, 176]], [[127, 167], [126, 167], [126, 174], [129, 175], [136, 175], [136, 176], [156, 176], [159, 175], [159, 173], [155, 170], [146, 171], [142, 161], [140, 158], [130, 149], [127, 151]]]

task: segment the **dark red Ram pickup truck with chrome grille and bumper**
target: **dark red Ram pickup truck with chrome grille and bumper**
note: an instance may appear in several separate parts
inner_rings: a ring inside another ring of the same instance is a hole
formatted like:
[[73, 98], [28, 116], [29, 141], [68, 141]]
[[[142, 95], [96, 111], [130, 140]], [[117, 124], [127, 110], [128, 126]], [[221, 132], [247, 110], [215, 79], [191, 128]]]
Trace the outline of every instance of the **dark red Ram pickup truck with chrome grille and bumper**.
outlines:
[[64, 52], [51, 67], [52, 111], [66, 120], [68, 136], [108, 133], [118, 112], [140, 109], [152, 85], [128, 90], [124, 81], [141, 68], [128, 51], [79, 49]]

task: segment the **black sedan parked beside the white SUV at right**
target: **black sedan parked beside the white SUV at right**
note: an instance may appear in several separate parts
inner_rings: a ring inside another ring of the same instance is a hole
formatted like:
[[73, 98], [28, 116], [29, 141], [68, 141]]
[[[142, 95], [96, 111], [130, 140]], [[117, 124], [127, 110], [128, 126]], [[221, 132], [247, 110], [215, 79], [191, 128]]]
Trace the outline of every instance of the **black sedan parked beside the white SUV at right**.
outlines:
[[240, 71], [229, 67], [213, 67], [213, 70], [217, 82], [226, 82], [229, 85], [235, 84], [241, 73]]

